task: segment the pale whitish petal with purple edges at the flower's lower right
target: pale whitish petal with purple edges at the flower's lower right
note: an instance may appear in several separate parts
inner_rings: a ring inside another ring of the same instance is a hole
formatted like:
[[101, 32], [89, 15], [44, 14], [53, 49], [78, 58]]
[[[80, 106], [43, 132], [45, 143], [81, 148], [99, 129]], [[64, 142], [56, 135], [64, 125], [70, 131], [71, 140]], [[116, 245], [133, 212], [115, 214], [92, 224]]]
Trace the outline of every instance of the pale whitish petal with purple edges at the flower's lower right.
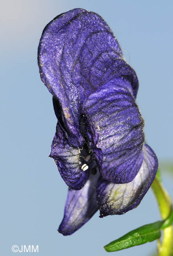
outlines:
[[100, 217], [123, 214], [136, 208], [157, 173], [158, 161], [153, 150], [144, 145], [144, 159], [137, 176], [127, 184], [113, 184], [100, 180], [98, 186], [98, 203]]

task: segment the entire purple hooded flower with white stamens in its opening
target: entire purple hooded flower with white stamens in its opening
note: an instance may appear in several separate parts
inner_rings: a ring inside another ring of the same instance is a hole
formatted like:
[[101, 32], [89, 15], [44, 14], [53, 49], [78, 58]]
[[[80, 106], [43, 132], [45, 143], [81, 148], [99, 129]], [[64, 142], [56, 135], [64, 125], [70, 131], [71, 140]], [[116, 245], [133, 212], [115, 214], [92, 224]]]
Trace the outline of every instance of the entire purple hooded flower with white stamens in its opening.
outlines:
[[38, 47], [40, 76], [58, 119], [51, 146], [69, 186], [63, 235], [138, 206], [157, 172], [135, 102], [138, 78], [106, 22], [74, 9], [53, 19]]

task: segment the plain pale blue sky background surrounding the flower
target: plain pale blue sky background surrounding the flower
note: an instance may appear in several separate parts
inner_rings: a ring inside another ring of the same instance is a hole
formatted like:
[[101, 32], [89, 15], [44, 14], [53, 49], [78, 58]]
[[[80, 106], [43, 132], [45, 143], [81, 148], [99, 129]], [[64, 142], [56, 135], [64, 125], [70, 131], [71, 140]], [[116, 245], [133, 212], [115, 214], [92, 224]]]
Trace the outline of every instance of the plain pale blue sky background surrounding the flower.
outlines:
[[[46, 24], [76, 7], [95, 11], [115, 33], [139, 78], [137, 102], [146, 121], [146, 140], [159, 161], [173, 159], [172, 0], [6, 0], [0, 10], [2, 256], [13, 255], [15, 244], [39, 245], [40, 256], [104, 256], [105, 244], [160, 218], [149, 191], [125, 215], [100, 219], [96, 213], [68, 237], [56, 231], [67, 186], [48, 158], [56, 117], [36, 58]], [[163, 178], [173, 197], [173, 180], [166, 174]], [[152, 242], [115, 254], [146, 256], [155, 248]]]

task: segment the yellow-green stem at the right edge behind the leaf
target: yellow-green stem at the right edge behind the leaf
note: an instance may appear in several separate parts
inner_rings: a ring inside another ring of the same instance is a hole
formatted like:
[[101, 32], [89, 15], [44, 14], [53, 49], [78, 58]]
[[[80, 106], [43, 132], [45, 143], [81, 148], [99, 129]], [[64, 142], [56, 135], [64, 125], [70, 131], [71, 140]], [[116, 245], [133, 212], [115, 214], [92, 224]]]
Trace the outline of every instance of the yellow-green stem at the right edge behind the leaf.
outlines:
[[[153, 184], [151, 185], [155, 197], [157, 198], [158, 206], [162, 219], [168, 218], [171, 213], [172, 202], [167, 191], [164, 189], [160, 182], [158, 175], [156, 176]], [[173, 250], [173, 226], [168, 226], [163, 230], [162, 243], [158, 241], [158, 256], [171, 256]]]

